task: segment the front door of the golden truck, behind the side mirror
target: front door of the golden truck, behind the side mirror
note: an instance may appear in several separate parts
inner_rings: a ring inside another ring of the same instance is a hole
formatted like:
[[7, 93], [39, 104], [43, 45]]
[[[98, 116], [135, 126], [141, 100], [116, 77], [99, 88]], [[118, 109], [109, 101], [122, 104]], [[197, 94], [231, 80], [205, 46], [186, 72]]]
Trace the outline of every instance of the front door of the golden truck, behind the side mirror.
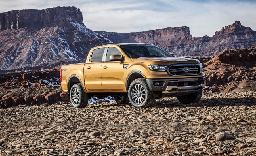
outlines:
[[110, 61], [110, 55], [122, 55], [116, 47], [108, 47], [106, 57], [101, 67], [102, 89], [105, 91], [123, 90], [123, 63]]

